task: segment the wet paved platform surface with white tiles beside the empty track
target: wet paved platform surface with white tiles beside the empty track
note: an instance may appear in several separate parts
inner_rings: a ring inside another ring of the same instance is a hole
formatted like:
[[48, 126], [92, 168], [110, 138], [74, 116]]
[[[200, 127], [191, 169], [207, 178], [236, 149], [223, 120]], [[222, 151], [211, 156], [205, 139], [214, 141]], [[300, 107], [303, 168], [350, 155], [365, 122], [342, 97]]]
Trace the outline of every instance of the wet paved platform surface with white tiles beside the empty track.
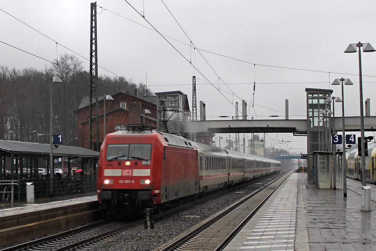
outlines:
[[371, 211], [361, 211], [361, 182], [342, 189], [318, 189], [306, 173], [293, 173], [248, 222], [225, 251], [376, 250], [376, 186]]

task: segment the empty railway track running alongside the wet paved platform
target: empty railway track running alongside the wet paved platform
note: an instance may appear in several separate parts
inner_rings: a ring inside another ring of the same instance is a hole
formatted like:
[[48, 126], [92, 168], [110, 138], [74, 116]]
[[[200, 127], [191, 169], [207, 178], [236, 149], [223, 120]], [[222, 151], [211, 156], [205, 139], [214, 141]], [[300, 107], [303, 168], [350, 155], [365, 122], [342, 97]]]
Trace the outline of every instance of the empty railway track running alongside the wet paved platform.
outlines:
[[262, 207], [268, 198], [291, 174], [262, 187], [241, 201], [226, 208], [186, 234], [178, 237], [159, 251], [219, 251]]

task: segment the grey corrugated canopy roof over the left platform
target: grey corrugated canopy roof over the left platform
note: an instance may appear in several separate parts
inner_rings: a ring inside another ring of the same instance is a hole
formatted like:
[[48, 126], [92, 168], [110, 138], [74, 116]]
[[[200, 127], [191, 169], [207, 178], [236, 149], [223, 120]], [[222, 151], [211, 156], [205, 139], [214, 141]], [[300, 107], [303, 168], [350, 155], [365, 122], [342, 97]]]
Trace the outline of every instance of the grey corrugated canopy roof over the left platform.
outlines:
[[[49, 154], [50, 144], [0, 140], [1, 152]], [[77, 146], [59, 146], [53, 149], [53, 155], [74, 157], [99, 157], [99, 152]]]

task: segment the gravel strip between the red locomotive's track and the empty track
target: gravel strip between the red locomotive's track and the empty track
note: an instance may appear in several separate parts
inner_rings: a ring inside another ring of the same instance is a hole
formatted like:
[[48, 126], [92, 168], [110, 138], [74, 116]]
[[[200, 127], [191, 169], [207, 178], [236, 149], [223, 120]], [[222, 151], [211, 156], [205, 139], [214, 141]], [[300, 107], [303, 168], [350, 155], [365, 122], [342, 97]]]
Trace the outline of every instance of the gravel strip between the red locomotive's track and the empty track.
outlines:
[[[263, 178], [257, 183], [269, 183], [270, 180], [281, 176], [276, 173]], [[147, 236], [147, 230], [143, 226], [135, 227], [124, 231], [117, 239], [111, 240], [92, 251], [152, 251], [169, 242], [174, 237], [182, 234], [205, 219], [217, 214], [219, 211], [240, 200], [244, 196], [259, 189], [262, 185], [250, 184], [235, 192], [221, 196], [217, 199], [197, 205], [194, 208], [174, 214], [167, 219], [155, 222], [155, 227], [151, 231], [151, 236]], [[238, 193], [236, 193], [238, 192]], [[244, 192], [244, 193], [239, 193]]]

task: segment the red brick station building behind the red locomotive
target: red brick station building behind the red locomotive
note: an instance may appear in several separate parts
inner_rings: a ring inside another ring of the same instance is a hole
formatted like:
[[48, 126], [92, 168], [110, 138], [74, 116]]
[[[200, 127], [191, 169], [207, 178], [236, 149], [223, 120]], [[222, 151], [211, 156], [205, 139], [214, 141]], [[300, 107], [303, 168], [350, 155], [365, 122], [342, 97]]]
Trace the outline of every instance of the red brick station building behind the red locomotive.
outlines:
[[[121, 91], [111, 95], [114, 100], [106, 100], [106, 134], [115, 132], [125, 125], [146, 124], [157, 125], [157, 96], [138, 97], [137, 90], [132, 95]], [[99, 140], [103, 142], [104, 97], [99, 97]], [[145, 114], [144, 109], [151, 113]], [[89, 96], [83, 97], [77, 114], [77, 146], [89, 147]], [[95, 135], [95, 133], [93, 133]], [[95, 149], [95, 148], [94, 148]]]

